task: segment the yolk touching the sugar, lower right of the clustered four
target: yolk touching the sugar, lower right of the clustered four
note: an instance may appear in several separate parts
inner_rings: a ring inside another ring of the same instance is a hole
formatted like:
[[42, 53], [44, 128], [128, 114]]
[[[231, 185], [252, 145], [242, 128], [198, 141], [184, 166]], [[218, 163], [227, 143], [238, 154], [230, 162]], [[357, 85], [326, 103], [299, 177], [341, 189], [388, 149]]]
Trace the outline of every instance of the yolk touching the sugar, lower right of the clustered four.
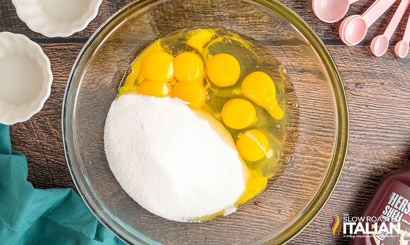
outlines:
[[197, 83], [178, 82], [172, 89], [172, 95], [188, 102], [191, 108], [199, 108], [205, 103], [205, 88]]

